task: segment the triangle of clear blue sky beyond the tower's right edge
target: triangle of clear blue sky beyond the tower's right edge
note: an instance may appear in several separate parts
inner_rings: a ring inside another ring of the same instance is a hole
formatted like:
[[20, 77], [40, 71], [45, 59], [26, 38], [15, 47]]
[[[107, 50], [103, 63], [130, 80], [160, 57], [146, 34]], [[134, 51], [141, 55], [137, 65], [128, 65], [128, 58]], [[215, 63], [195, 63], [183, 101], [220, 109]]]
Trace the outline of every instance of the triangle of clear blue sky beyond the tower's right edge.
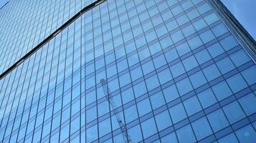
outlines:
[[256, 0], [221, 0], [256, 40]]

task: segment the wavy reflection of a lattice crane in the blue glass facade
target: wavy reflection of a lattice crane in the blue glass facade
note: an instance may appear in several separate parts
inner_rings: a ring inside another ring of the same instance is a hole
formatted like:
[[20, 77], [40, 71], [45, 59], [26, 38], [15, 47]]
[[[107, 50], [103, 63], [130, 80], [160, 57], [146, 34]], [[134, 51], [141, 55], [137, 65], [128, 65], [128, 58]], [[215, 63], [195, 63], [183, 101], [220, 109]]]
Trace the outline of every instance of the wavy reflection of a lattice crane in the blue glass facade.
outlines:
[[101, 85], [103, 86], [103, 92], [105, 94], [105, 97], [108, 100], [108, 103], [110, 104], [110, 106], [113, 108], [115, 118], [117, 119], [119, 127], [123, 133], [124, 142], [132, 143], [131, 136], [130, 136], [128, 130], [126, 129], [125, 124], [123, 123], [122, 119], [120, 118], [120, 114], [118, 113], [115, 102], [112, 98], [112, 95], [110, 94], [110, 89], [108, 89], [107, 82], [105, 81], [105, 79], [101, 79], [100, 82], [101, 82]]

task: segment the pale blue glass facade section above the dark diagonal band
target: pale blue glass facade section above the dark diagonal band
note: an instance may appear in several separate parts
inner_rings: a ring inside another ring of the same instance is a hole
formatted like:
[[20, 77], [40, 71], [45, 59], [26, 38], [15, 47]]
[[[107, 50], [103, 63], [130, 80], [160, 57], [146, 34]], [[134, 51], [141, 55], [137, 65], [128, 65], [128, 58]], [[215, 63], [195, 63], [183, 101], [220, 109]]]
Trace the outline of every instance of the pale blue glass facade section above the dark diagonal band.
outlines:
[[0, 11], [0, 73], [94, 1], [9, 1]]

